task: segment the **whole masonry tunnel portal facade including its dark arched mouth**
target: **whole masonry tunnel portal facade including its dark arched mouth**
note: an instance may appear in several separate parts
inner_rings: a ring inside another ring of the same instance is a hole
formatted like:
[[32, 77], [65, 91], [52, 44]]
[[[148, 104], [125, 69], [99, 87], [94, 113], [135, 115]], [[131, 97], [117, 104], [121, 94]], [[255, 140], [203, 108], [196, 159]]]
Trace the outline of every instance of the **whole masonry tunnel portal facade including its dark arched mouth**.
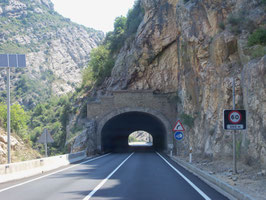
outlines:
[[169, 144], [173, 144], [172, 125], [176, 117], [169, 96], [150, 90], [123, 90], [89, 102], [87, 117], [96, 122], [97, 149], [127, 150], [128, 136], [142, 130], [152, 135], [155, 150], [168, 150]]

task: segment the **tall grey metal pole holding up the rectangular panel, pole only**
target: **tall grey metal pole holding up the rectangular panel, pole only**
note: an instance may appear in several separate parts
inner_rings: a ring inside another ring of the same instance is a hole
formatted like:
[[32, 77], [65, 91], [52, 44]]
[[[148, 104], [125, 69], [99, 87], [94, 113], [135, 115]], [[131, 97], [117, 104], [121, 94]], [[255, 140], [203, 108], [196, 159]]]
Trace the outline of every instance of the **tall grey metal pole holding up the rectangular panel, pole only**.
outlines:
[[7, 67], [7, 163], [11, 163], [11, 148], [10, 148], [10, 67], [9, 59]]

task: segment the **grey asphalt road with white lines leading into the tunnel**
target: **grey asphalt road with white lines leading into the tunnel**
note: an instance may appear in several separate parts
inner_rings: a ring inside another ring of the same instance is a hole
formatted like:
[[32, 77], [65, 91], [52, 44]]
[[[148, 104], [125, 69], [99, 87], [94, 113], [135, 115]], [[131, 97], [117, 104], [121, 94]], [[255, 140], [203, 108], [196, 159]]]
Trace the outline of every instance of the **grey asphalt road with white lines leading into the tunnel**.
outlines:
[[[16, 186], [16, 184], [19, 184]], [[0, 184], [1, 200], [227, 199], [163, 154], [109, 154], [26, 182]]]

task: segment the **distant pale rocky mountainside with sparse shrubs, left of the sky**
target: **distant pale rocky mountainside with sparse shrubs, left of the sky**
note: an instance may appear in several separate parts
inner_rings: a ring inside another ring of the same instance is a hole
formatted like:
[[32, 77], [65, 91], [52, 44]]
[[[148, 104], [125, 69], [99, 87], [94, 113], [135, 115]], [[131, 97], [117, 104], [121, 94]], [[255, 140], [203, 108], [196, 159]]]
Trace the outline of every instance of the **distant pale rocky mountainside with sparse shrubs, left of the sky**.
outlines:
[[[50, 0], [0, 2], [0, 53], [26, 54], [27, 67], [12, 69], [12, 98], [28, 108], [61, 95], [81, 82], [81, 70], [103, 32], [72, 23], [54, 11]], [[5, 97], [5, 70], [0, 71]]]

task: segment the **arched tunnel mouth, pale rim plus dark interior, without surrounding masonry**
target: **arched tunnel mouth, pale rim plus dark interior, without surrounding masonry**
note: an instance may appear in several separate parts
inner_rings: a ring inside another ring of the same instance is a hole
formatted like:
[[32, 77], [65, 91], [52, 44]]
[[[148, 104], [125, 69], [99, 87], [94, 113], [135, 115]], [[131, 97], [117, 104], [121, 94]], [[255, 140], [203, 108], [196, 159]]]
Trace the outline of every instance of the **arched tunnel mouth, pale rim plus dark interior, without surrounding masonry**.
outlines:
[[[135, 124], [129, 123], [129, 120], [132, 120]], [[127, 128], [125, 127], [126, 123]], [[97, 126], [97, 149], [99, 151], [109, 151], [112, 149], [112, 145], [115, 145], [112, 142], [116, 141], [116, 145], [118, 145], [117, 140], [120, 140], [119, 148], [126, 148], [125, 140], [128, 147], [128, 136], [133, 131], [140, 129], [147, 131], [153, 136], [156, 150], [167, 149], [169, 133], [171, 133], [171, 125], [168, 119], [160, 112], [150, 108], [130, 107], [115, 110], [107, 114], [99, 122]], [[114, 135], [112, 136], [112, 134]], [[112, 143], [112, 145], [109, 144], [109, 147], [106, 143], [107, 140], [109, 140], [109, 143]]]

